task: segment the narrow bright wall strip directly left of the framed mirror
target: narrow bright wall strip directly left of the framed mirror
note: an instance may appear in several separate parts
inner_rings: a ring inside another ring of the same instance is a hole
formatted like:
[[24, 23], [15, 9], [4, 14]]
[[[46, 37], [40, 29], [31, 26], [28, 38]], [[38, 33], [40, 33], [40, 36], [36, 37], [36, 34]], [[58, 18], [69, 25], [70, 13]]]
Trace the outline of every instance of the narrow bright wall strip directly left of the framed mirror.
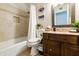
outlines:
[[51, 26], [52, 27], [52, 10], [51, 4], [45, 5], [45, 27]]

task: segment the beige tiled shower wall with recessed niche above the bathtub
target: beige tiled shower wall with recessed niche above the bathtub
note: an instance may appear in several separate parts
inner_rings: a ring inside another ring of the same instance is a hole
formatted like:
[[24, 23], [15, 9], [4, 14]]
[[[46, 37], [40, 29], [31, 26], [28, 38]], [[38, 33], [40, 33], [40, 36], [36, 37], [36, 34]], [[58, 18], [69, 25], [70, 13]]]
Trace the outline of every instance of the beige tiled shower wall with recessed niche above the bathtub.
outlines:
[[0, 42], [27, 36], [26, 10], [25, 4], [0, 3]]

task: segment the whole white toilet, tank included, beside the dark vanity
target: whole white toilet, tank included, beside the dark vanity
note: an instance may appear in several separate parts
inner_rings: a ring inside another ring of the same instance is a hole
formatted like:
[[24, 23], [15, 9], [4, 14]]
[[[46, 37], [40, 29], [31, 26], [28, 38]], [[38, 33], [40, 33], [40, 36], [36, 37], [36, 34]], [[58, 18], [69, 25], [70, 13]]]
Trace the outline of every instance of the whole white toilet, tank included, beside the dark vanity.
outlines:
[[35, 56], [38, 54], [39, 45], [42, 40], [40, 34], [42, 34], [44, 29], [40, 29], [37, 31], [37, 37], [31, 38], [28, 40], [28, 47], [31, 47], [31, 56]]

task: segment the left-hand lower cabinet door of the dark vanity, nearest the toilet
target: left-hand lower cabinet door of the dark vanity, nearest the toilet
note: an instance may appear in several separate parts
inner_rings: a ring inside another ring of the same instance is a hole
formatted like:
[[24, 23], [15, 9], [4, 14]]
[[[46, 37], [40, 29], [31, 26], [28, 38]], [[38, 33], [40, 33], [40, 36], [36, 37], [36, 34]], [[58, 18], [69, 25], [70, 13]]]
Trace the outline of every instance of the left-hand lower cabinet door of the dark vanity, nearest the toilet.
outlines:
[[44, 46], [44, 54], [49, 56], [61, 55], [60, 43], [48, 40]]

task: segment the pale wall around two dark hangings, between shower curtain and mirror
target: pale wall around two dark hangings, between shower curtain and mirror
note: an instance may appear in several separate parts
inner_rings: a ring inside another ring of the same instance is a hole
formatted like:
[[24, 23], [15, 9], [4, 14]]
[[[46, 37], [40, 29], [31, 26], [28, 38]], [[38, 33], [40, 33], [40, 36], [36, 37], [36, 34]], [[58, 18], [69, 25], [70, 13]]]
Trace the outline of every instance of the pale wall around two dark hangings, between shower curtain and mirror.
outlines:
[[[39, 12], [39, 9], [44, 7], [42, 12]], [[44, 15], [44, 18], [39, 19], [38, 16]], [[37, 22], [41, 23], [43, 28], [46, 28], [48, 25], [52, 26], [51, 20], [51, 5], [48, 3], [37, 5]]]

